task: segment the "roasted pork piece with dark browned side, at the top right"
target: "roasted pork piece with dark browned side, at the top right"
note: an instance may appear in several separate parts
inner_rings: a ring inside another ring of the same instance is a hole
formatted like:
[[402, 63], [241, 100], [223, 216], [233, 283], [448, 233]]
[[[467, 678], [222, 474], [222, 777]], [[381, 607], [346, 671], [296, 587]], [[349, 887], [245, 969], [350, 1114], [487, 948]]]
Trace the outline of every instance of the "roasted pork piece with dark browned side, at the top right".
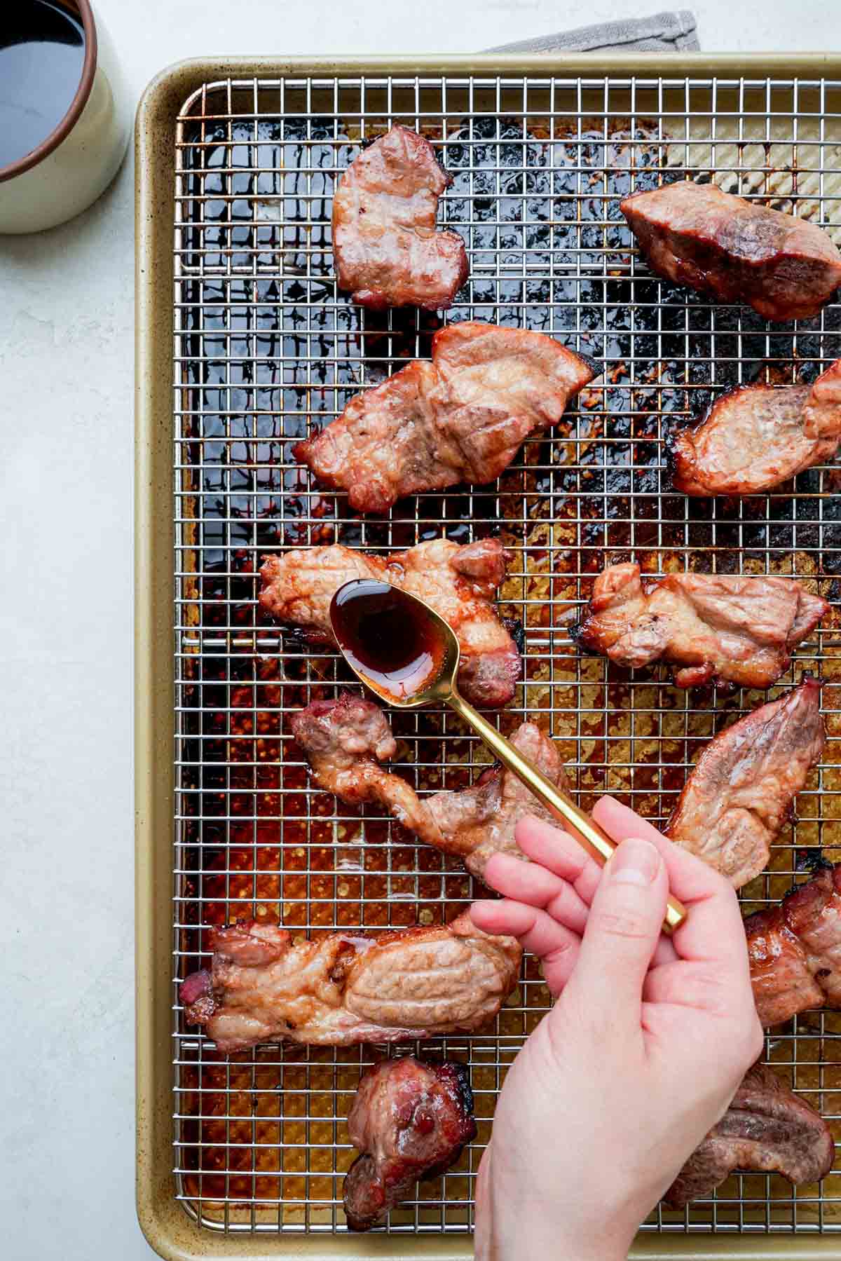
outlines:
[[632, 193], [619, 209], [658, 276], [764, 319], [817, 315], [841, 285], [841, 253], [822, 228], [715, 184]]

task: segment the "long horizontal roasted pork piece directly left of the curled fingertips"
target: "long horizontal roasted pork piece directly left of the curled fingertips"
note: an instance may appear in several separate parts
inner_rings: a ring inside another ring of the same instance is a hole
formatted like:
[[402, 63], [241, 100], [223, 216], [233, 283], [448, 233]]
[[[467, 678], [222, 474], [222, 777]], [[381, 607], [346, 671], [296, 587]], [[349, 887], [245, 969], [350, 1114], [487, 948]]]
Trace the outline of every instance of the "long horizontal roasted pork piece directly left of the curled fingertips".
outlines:
[[187, 1020], [228, 1053], [261, 1042], [349, 1047], [470, 1033], [492, 1020], [519, 972], [513, 937], [465, 910], [446, 926], [295, 941], [274, 924], [217, 929], [211, 971], [182, 982]]

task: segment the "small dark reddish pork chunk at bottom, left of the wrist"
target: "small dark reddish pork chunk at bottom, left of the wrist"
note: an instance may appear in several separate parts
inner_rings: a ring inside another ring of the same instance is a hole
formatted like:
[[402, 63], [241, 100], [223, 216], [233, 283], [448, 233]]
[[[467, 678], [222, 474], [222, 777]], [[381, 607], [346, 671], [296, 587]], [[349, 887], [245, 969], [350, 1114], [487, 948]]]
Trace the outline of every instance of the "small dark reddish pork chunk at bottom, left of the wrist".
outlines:
[[369, 1231], [416, 1182], [445, 1173], [475, 1139], [468, 1069], [449, 1061], [383, 1059], [359, 1082], [348, 1132], [362, 1155], [344, 1179], [344, 1212], [352, 1231]]

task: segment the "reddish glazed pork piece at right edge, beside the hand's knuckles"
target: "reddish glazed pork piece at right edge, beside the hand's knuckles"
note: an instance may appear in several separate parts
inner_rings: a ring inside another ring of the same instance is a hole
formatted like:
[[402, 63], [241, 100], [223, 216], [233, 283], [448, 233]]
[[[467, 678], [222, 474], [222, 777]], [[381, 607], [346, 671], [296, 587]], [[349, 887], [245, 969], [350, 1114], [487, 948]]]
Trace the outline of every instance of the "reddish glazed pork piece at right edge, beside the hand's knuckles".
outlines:
[[764, 1025], [841, 1006], [841, 865], [827, 864], [778, 907], [749, 915], [745, 933]]

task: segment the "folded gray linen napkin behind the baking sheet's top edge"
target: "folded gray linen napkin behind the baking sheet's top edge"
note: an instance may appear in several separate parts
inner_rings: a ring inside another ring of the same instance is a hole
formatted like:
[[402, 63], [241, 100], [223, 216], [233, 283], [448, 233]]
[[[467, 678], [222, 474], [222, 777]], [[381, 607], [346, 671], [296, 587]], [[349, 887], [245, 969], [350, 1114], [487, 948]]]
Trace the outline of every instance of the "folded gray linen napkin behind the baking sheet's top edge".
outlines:
[[519, 39], [516, 44], [485, 48], [487, 53], [595, 53], [613, 49], [623, 53], [668, 53], [675, 49], [697, 49], [695, 14], [688, 9], [656, 13], [651, 18], [624, 18], [600, 21], [595, 26], [579, 26], [555, 35]]

